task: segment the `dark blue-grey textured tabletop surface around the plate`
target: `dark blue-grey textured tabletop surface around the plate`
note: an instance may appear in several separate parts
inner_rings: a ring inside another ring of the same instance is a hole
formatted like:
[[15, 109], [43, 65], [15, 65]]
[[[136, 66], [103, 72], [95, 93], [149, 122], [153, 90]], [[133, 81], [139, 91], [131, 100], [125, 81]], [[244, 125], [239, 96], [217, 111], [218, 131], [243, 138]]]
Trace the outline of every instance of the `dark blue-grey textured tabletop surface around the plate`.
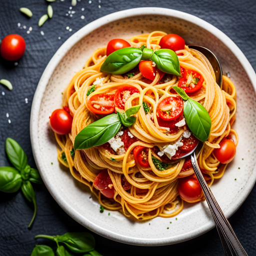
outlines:
[[[16, 139], [35, 167], [32, 156], [29, 119], [31, 102], [39, 78], [58, 47], [75, 31], [90, 21], [114, 11], [133, 7], [157, 6], [173, 8], [194, 14], [227, 34], [256, 68], [256, 1], [255, 0], [81, 0], [66, 16], [71, 0], [52, 3], [53, 18], [41, 28], [39, 17], [46, 12], [45, 0], [0, 0], [0, 38], [10, 33], [21, 34], [26, 41], [26, 52], [18, 65], [0, 59], [0, 78], [9, 79], [13, 90], [0, 85], [0, 166], [9, 165], [4, 152], [5, 138]], [[98, 6], [100, 5], [100, 7]], [[19, 12], [20, 7], [33, 11], [28, 19]], [[81, 8], [84, 8], [84, 11]], [[81, 19], [80, 16], [85, 18]], [[18, 28], [17, 23], [26, 26]], [[32, 31], [26, 31], [29, 26]], [[66, 26], [72, 31], [66, 30]], [[44, 32], [41, 35], [40, 31]], [[61, 37], [58, 39], [58, 37]], [[230, 63], [231, 64], [231, 63]], [[3, 95], [4, 94], [4, 95]], [[26, 103], [27, 101], [27, 103]], [[8, 113], [9, 117], [6, 117]], [[9, 121], [10, 120], [10, 123]], [[39, 233], [62, 234], [66, 231], [84, 231], [86, 228], [70, 218], [54, 201], [44, 185], [35, 187], [38, 212], [31, 230], [26, 228], [32, 216], [32, 205], [20, 192], [0, 193], [0, 255], [30, 255], [38, 242]], [[249, 255], [256, 255], [256, 188], [254, 187], [230, 222]], [[223, 255], [216, 229], [180, 244], [162, 247], [139, 247], [117, 243], [95, 234], [96, 249], [108, 255]], [[41, 242], [41, 241], [39, 241]]]

